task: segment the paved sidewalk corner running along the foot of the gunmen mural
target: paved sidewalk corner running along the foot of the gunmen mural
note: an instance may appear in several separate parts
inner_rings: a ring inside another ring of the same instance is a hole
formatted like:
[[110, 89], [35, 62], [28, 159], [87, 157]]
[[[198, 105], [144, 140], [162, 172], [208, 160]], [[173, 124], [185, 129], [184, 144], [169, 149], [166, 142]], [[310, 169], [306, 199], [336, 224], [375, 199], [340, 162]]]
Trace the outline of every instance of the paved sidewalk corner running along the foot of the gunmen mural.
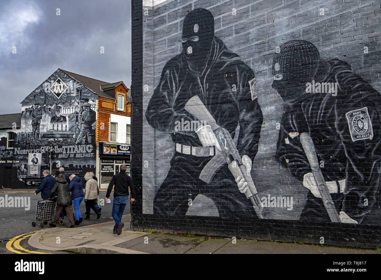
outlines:
[[82, 227], [44, 229], [33, 234], [30, 246], [48, 251], [82, 254], [381, 254], [375, 249], [319, 246], [259, 240], [163, 234], [130, 231], [130, 216], [124, 217], [121, 235], [112, 233], [114, 222]]

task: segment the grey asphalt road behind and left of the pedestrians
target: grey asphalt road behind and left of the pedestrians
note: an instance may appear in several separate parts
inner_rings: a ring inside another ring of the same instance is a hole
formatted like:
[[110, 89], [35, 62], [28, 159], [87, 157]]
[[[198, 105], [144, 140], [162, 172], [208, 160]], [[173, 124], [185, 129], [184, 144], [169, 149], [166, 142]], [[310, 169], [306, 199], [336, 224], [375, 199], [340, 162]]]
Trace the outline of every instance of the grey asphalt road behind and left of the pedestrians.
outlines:
[[[11, 194], [0, 194], [0, 197], [5, 198], [5, 195], [9, 197], [26, 197], [27, 202], [29, 201], [29, 210], [26, 210], [25, 207], [0, 207], [0, 253], [9, 253], [5, 248], [6, 242], [18, 235], [25, 234], [27, 232], [32, 232], [39, 230], [39, 224], [41, 222], [37, 221], [37, 226], [32, 227], [32, 222], [35, 221], [37, 201], [41, 200], [40, 194], [35, 196], [33, 193], [11, 193]], [[105, 198], [106, 193], [101, 192], [99, 198]], [[111, 194], [111, 202], [113, 200], [113, 195]], [[106, 203], [104, 200], [104, 205], [99, 205], [102, 208], [101, 217], [96, 218], [96, 214], [93, 210], [90, 210], [90, 220], [84, 220], [80, 226], [88, 226], [91, 224], [98, 224], [100, 222], [112, 221], [111, 210], [112, 203]], [[82, 201], [80, 205], [80, 211], [83, 217], [85, 217], [85, 202]], [[124, 214], [130, 214], [130, 203], [127, 203]], [[49, 222], [48, 222], [49, 223]], [[60, 225], [57, 225], [61, 227]], [[70, 222], [67, 217], [65, 217], [65, 224], [62, 227], [69, 227]], [[46, 225], [45, 227], [49, 227]], [[45, 228], [44, 227], [44, 228]]]

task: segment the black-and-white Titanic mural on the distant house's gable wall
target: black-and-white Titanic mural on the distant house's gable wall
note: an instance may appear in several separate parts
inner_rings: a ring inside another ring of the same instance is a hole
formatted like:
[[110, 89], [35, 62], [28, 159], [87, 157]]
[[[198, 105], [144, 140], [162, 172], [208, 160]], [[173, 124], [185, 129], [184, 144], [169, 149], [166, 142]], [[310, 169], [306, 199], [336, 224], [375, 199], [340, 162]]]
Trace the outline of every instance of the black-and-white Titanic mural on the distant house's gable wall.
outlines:
[[55, 155], [52, 173], [59, 167], [82, 177], [88, 171], [95, 173], [97, 98], [61, 70], [30, 93], [21, 102], [21, 128], [14, 134], [14, 150], [3, 151], [6, 160], [13, 161], [12, 184], [6, 187], [38, 186], [42, 172], [50, 170], [46, 151]]

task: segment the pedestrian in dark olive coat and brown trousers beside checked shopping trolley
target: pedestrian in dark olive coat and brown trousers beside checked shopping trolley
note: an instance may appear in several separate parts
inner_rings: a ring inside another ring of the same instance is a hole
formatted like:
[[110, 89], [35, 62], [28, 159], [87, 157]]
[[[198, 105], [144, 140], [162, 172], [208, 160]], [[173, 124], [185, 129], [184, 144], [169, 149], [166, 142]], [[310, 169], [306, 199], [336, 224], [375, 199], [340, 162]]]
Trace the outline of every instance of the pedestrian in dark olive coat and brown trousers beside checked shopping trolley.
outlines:
[[[55, 181], [55, 180], [54, 180]], [[56, 215], [54, 216], [54, 221], [49, 224], [51, 227], [56, 227], [59, 215], [62, 209], [66, 210], [67, 217], [70, 221], [70, 227], [74, 227], [74, 213], [73, 213], [73, 200], [69, 191], [69, 184], [65, 179], [63, 174], [58, 175], [58, 180], [54, 184], [53, 189], [50, 192], [50, 199], [54, 197], [54, 193], [57, 191], [57, 208]]]

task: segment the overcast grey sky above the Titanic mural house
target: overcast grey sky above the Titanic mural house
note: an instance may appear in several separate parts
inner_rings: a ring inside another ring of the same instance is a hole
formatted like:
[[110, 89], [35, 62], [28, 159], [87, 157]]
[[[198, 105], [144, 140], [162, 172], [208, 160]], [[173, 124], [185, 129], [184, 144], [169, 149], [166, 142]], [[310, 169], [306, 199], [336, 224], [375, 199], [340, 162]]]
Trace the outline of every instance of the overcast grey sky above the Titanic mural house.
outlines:
[[0, 0], [0, 6], [0, 114], [21, 112], [19, 102], [58, 68], [130, 87], [131, 0]]

